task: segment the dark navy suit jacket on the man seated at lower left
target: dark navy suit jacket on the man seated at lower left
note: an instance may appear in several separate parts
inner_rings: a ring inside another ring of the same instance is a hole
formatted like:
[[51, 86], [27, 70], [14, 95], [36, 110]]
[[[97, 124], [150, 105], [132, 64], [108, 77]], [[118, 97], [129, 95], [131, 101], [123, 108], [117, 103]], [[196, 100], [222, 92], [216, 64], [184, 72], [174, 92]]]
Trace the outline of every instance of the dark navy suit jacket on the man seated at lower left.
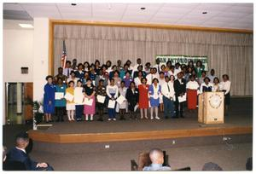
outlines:
[[38, 162], [29, 158], [28, 154], [24, 153], [18, 148], [12, 148], [7, 154], [9, 161], [20, 161], [26, 166], [27, 171], [35, 171], [37, 169]]

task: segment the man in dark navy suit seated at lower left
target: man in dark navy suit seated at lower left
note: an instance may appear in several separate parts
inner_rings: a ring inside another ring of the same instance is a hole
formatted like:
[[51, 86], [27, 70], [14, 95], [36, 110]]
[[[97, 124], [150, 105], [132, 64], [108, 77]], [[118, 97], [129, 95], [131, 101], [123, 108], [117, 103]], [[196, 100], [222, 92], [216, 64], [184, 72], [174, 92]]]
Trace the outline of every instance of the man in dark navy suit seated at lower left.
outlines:
[[23, 163], [26, 166], [26, 171], [53, 171], [54, 169], [47, 163], [38, 163], [30, 159], [26, 154], [28, 143], [29, 137], [26, 133], [20, 133], [16, 136], [16, 147], [9, 150], [7, 160]]

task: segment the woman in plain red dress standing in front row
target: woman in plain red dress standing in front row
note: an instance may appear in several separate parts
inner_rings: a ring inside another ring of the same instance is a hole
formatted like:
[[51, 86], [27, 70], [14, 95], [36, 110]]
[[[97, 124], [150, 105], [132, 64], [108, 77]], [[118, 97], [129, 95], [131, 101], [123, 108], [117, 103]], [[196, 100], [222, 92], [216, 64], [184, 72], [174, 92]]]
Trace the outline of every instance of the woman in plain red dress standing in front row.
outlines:
[[143, 119], [143, 112], [145, 118], [148, 119], [147, 110], [148, 110], [148, 87], [147, 78], [142, 78], [142, 84], [138, 85], [139, 90], [139, 108], [141, 111], [141, 119]]

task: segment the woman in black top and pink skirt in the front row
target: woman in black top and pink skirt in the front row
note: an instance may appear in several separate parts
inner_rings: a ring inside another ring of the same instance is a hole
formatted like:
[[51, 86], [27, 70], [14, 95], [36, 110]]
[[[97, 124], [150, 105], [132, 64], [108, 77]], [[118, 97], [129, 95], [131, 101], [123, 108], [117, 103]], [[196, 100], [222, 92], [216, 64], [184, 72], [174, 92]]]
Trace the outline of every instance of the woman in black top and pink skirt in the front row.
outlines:
[[[88, 115], [90, 114], [90, 121], [93, 121], [93, 115], [95, 114], [95, 94], [96, 89], [94, 85], [92, 84], [92, 81], [90, 78], [87, 79], [86, 84], [84, 85], [84, 100], [88, 100], [88, 103], [84, 104], [84, 115], [85, 120], [88, 121]], [[90, 101], [92, 100], [92, 102]]]

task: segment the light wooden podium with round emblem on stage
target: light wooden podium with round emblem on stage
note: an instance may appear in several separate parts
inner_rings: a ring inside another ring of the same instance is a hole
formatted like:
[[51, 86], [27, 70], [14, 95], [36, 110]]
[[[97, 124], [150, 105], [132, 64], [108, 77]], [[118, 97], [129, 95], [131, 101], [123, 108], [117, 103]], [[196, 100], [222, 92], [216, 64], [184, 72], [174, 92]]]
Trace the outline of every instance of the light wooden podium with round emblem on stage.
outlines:
[[224, 92], [204, 92], [199, 95], [198, 122], [224, 124]]

